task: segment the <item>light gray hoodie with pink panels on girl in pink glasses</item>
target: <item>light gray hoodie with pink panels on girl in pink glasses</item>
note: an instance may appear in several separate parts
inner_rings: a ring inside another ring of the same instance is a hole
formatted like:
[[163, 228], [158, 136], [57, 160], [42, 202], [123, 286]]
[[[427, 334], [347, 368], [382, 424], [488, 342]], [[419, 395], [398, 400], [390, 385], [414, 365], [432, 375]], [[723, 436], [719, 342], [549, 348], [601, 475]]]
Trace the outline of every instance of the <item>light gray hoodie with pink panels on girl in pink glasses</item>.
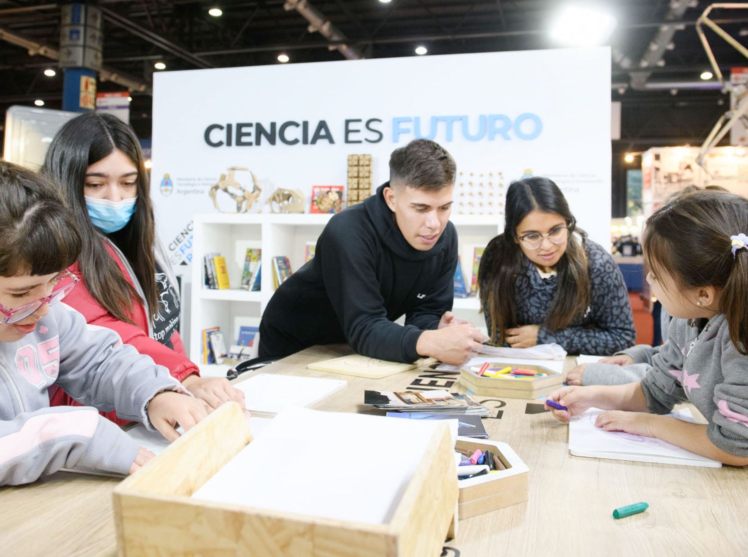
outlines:
[[[52, 384], [90, 406], [49, 407]], [[113, 330], [55, 304], [33, 333], [0, 342], [0, 484], [28, 483], [61, 468], [126, 474], [138, 443], [98, 410], [117, 410], [153, 429], [147, 404], [165, 390], [189, 394]]]

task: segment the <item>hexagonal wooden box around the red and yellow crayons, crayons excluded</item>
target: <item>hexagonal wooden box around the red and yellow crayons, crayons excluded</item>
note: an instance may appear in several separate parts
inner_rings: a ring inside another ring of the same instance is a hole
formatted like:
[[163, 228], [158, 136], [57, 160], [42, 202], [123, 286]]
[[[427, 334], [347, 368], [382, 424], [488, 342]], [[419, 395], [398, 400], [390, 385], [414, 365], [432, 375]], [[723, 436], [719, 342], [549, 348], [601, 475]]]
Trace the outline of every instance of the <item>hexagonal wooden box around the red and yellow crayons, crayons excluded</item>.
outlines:
[[[519, 367], [516, 364], [491, 362], [491, 367], [494, 366]], [[469, 369], [462, 369], [460, 371], [460, 384], [476, 395], [503, 396], [506, 398], [538, 398], [551, 394], [562, 384], [562, 374], [551, 369], [527, 364], [522, 364], [521, 368], [544, 373], [545, 376], [533, 379], [500, 379], [481, 377]]]

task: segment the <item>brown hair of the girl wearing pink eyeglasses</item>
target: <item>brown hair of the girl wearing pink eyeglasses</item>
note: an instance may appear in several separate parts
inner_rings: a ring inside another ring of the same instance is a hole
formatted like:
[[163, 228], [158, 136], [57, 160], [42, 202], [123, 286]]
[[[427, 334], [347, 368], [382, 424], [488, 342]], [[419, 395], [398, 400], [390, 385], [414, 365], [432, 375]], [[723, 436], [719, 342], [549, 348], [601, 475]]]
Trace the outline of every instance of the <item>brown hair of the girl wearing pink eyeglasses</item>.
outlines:
[[0, 276], [64, 271], [81, 252], [73, 212], [59, 188], [0, 160]]

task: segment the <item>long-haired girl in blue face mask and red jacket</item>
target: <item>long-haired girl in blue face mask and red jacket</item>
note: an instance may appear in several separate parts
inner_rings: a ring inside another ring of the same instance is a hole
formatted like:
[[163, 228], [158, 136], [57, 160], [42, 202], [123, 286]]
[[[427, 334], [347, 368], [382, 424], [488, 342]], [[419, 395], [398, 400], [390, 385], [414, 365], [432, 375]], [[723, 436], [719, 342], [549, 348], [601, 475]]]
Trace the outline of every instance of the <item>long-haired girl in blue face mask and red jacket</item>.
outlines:
[[[81, 283], [66, 304], [167, 367], [209, 407], [229, 400], [243, 406], [241, 391], [224, 378], [200, 378], [186, 356], [177, 280], [156, 235], [143, 153], [132, 129], [111, 114], [81, 114], [59, 129], [40, 172], [62, 186], [83, 240], [69, 269]], [[52, 403], [71, 404], [71, 398], [54, 393]]]

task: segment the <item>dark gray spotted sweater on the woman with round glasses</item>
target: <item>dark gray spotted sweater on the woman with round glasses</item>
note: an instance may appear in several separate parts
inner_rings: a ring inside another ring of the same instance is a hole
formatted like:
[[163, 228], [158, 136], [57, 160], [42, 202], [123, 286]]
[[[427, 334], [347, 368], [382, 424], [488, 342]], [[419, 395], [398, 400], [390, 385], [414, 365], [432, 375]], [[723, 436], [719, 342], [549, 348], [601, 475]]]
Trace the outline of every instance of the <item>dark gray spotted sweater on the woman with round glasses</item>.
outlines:
[[[548, 330], [540, 327], [538, 344], [556, 342], [569, 354], [613, 354], [634, 345], [637, 338], [634, 316], [621, 270], [599, 244], [587, 240], [590, 305], [585, 315], [570, 327]], [[525, 257], [524, 269], [515, 283], [519, 324], [541, 324], [548, 316], [558, 286], [557, 277], [542, 279], [538, 269]], [[486, 320], [490, 328], [490, 321]]]

